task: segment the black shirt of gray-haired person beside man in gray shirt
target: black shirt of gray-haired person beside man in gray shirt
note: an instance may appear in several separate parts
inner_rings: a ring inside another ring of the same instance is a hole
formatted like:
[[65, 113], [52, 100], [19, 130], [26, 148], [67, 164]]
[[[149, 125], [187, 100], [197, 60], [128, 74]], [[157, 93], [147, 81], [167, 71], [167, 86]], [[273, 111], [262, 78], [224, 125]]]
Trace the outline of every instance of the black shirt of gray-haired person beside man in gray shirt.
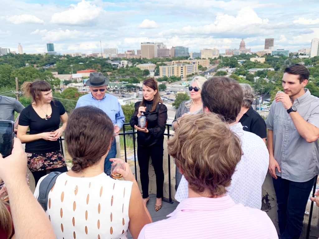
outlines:
[[257, 134], [260, 138], [267, 137], [266, 123], [263, 118], [254, 111], [253, 107], [250, 106], [249, 110], [244, 113], [239, 122], [243, 130]]

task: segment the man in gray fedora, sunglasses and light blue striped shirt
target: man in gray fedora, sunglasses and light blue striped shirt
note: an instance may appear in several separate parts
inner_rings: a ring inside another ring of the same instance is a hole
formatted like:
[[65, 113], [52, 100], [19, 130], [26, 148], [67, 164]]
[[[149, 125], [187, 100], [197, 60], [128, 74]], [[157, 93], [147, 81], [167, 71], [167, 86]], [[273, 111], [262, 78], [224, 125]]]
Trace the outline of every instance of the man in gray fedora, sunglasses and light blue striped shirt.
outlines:
[[[90, 87], [91, 93], [81, 96], [78, 99], [75, 108], [92, 105], [103, 110], [114, 124], [114, 136], [120, 133], [120, 129], [123, 126], [125, 117], [120, 105], [120, 102], [115, 96], [106, 94], [106, 86], [109, 83], [109, 79], [104, 77], [101, 72], [91, 72], [89, 79], [85, 82], [85, 85]], [[107, 147], [107, 146], [106, 146]], [[111, 168], [110, 158], [116, 156], [116, 143], [115, 137], [111, 143], [111, 148], [105, 158], [104, 172]]]

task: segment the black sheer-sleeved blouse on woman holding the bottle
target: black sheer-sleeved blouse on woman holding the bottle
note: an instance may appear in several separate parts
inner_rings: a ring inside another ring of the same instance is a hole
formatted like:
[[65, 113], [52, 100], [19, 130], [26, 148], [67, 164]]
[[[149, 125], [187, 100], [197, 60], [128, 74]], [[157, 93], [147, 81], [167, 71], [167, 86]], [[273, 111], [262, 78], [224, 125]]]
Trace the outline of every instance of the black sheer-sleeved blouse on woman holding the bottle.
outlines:
[[[137, 125], [137, 114], [138, 114], [138, 107], [140, 105], [140, 101], [136, 102], [135, 112], [130, 120], [130, 125], [134, 127]], [[166, 121], [167, 121], [167, 107], [163, 103], [157, 103], [156, 109], [153, 112], [152, 110], [153, 101], [152, 100], [145, 100], [145, 116], [147, 119], [147, 129], [148, 133], [144, 133], [141, 131], [137, 131], [137, 144], [141, 146], [151, 146], [158, 141], [164, 140], [164, 132], [166, 128]]]

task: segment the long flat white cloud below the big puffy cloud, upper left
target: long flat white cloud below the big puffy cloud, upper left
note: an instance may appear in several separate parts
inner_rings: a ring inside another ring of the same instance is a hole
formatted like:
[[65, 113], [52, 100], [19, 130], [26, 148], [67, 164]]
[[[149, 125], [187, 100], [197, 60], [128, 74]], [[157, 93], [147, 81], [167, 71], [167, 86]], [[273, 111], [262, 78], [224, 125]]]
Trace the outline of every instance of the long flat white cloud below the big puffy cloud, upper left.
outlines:
[[54, 29], [51, 31], [48, 31], [46, 29], [44, 30], [35, 30], [30, 33], [31, 35], [39, 34], [42, 36], [42, 40], [49, 40], [49, 41], [59, 41], [59, 40], [65, 40], [65, 39], [83, 39], [83, 38], [91, 38], [91, 37], [97, 37], [97, 34], [91, 33], [91, 32], [81, 32], [77, 30], [69, 30], [66, 29], [63, 31], [61, 28]]

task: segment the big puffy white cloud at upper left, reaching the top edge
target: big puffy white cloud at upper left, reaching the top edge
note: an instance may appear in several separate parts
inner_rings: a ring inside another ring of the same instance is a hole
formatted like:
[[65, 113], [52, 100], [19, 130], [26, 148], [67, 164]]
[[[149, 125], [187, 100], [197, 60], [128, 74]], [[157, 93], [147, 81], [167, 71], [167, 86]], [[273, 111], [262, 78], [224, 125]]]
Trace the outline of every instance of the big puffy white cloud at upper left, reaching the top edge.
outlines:
[[90, 2], [82, 0], [78, 5], [71, 4], [70, 9], [52, 15], [51, 23], [63, 25], [91, 25], [105, 11]]

